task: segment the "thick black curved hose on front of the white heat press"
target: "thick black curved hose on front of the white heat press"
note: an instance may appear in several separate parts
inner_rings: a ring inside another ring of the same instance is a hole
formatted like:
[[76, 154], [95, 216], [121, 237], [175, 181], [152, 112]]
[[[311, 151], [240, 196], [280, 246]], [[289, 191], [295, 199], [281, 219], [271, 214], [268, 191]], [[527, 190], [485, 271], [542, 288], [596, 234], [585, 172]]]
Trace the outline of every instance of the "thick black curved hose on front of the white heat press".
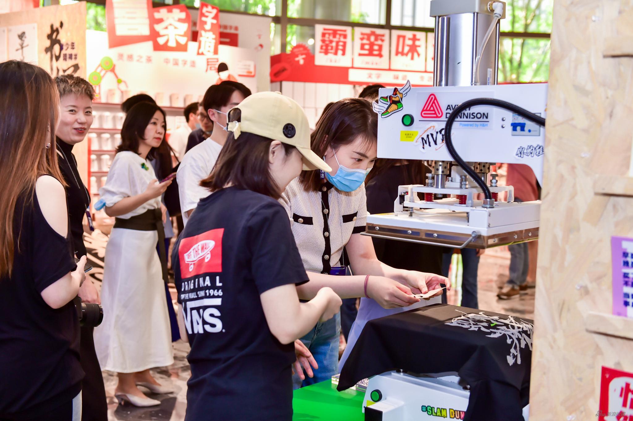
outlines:
[[521, 108], [519, 106], [516, 106], [515, 104], [511, 104], [510, 102], [502, 101], [501, 99], [494, 99], [494, 98], [469, 99], [468, 101], [462, 102], [459, 106], [453, 109], [453, 111], [451, 111], [451, 115], [446, 120], [446, 126], [444, 126], [444, 142], [446, 143], [446, 149], [448, 149], [448, 153], [451, 154], [451, 157], [453, 157], [453, 161], [457, 162], [457, 164], [465, 171], [465, 173], [467, 173], [470, 176], [470, 178], [475, 180], [475, 183], [477, 183], [477, 185], [481, 188], [481, 190], [483, 190], [486, 198], [492, 199], [490, 189], [488, 188], [486, 183], [484, 183], [484, 180], [479, 178], [479, 175], [477, 175], [477, 173], [475, 173], [475, 171], [472, 168], [470, 168], [470, 166], [463, 159], [461, 159], [461, 156], [459, 156], [459, 154], [455, 150], [455, 147], [453, 146], [453, 139], [451, 138], [451, 130], [453, 129], [453, 123], [455, 119], [458, 118], [460, 113], [464, 111], [465, 109], [468, 109], [474, 106], [479, 106], [479, 105], [489, 105], [489, 106], [507, 109], [508, 111], [512, 111], [513, 113], [516, 113], [522, 116], [523, 118], [529, 119], [530, 121], [533, 121], [537, 125], [541, 125], [541, 126], [545, 126], [545, 119], [542, 118], [541, 116], [537, 116], [534, 113], [530, 113], [525, 108]]

